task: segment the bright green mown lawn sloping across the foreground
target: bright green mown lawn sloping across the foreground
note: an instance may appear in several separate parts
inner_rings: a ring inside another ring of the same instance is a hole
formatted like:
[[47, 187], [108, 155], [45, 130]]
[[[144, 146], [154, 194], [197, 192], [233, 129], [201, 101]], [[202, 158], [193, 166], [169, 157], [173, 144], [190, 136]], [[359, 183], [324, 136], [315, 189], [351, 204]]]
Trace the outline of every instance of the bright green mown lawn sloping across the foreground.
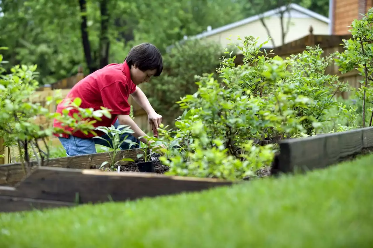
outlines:
[[203, 193], [1, 214], [0, 247], [362, 248], [372, 210], [369, 155]]

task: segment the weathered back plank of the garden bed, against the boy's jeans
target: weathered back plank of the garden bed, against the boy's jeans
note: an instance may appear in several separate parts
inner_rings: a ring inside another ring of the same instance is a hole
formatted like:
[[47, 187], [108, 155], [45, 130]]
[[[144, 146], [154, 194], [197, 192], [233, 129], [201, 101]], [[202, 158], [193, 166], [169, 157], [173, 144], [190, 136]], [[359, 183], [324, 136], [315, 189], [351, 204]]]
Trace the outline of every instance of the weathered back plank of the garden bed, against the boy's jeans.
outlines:
[[[116, 161], [119, 161], [123, 158], [131, 158], [133, 160], [137, 159], [137, 154], [143, 153], [141, 149], [130, 149], [118, 151], [116, 154]], [[95, 153], [89, 155], [81, 156], [70, 156], [64, 158], [54, 158], [50, 159], [46, 166], [49, 167], [61, 167], [61, 168], [75, 168], [75, 169], [91, 169], [97, 168], [103, 162], [110, 162], [110, 155], [108, 152], [104, 153]], [[121, 161], [118, 165], [126, 165], [130, 162]], [[37, 166], [36, 161], [31, 162], [31, 167], [34, 168]], [[6, 165], [0, 165], [0, 185], [15, 185], [22, 178], [25, 178], [25, 172], [22, 169], [21, 163], [12, 163]]]

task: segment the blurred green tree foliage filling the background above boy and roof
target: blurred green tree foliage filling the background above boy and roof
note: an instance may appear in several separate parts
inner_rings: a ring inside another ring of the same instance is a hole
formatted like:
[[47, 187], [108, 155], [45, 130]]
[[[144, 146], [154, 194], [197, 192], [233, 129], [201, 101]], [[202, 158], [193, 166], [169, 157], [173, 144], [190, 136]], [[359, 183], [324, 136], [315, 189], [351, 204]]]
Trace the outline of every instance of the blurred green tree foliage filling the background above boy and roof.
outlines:
[[[164, 54], [167, 46], [184, 35], [195, 35], [209, 25], [217, 28], [262, 13], [282, 2], [2, 0], [1, 46], [9, 47], [4, 53], [4, 59], [9, 61], [7, 70], [15, 64], [37, 64], [40, 83], [53, 83], [76, 74], [79, 65], [88, 74], [106, 61], [121, 63], [129, 49], [140, 42], [151, 42]], [[323, 15], [327, 13], [327, 0], [292, 2]], [[86, 12], [81, 11], [81, 5], [86, 7]], [[87, 54], [83, 50], [81, 31], [84, 18], [87, 18], [87, 29], [84, 30], [87, 31], [86, 41], [89, 41], [86, 44], [89, 43], [90, 48]], [[104, 49], [106, 44], [109, 45], [107, 51]], [[88, 63], [87, 55], [92, 62]]]

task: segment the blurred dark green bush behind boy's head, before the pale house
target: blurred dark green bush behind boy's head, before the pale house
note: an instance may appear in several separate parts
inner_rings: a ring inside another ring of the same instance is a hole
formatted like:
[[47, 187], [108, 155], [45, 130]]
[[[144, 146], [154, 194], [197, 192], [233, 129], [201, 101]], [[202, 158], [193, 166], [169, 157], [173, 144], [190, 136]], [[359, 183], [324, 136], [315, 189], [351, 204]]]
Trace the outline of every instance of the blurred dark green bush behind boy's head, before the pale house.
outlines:
[[[174, 124], [181, 115], [181, 109], [176, 104], [185, 95], [198, 90], [195, 76], [204, 73], [214, 73], [219, 68], [225, 50], [219, 44], [188, 40], [176, 44], [169, 53], [164, 55], [164, 69], [160, 77], [154, 77], [150, 83], [141, 85], [157, 112], [163, 116], [163, 123]], [[214, 73], [217, 78], [217, 74]]]

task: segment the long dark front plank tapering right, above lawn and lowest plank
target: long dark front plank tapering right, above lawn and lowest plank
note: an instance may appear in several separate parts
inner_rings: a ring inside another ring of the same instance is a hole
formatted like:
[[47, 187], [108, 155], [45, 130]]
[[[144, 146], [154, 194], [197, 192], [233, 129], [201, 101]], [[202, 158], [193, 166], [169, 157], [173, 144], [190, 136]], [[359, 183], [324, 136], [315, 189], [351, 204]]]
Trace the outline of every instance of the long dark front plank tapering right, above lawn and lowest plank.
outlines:
[[0, 194], [71, 203], [75, 203], [76, 199], [79, 203], [99, 203], [201, 191], [231, 184], [230, 181], [212, 178], [42, 167], [23, 180], [15, 191], [0, 189]]

